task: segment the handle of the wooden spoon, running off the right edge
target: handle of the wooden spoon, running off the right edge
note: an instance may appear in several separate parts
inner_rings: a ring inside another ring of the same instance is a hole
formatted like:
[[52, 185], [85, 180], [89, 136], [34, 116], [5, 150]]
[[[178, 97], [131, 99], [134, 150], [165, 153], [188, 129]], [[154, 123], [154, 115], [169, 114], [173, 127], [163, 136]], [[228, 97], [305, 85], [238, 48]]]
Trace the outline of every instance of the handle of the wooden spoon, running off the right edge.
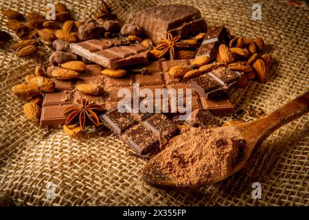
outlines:
[[301, 96], [284, 104], [273, 113], [258, 120], [247, 123], [247, 131], [258, 135], [258, 141], [262, 143], [271, 133], [279, 129], [280, 126], [299, 118], [309, 112], [309, 91]]

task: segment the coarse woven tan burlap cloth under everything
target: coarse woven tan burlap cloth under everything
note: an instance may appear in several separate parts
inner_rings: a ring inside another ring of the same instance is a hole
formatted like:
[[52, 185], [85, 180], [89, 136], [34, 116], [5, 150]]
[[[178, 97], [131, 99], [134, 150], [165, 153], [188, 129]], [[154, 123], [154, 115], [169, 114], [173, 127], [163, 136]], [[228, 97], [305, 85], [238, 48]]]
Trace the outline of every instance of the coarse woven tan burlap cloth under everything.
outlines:
[[[271, 113], [308, 89], [308, 8], [288, 1], [258, 1], [262, 21], [253, 21], [256, 1], [108, 1], [123, 20], [152, 5], [187, 3], [201, 10], [209, 27], [225, 25], [238, 36], [261, 36], [274, 58], [271, 80], [252, 82], [232, 96], [238, 118], [250, 121], [255, 113]], [[42, 11], [47, 1], [1, 0], [0, 8], [23, 14]], [[99, 1], [67, 1], [77, 19], [98, 12]], [[1, 29], [7, 19], [0, 15]], [[13, 34], [13, 32], [10, 32]], [[14, 34], [13, 34], [14, 35]], [[12, 43], [11, 43], [12, 45]], [[268, 137], [251, 164], [240, 173], [195, 192], [165, 192], [144, 184], [144, 160], [128, 156], [128, 148], [116, 135], [99, 137], [90, 130], [70, 138], [60, 129], [48, 137], [38, 124], [23, 115], [23, 101], [11, 87], [23, 81], [23, 72], [47, 60], [46, 52], [17, 58], [9, 45], [1, 45], [0, 65], [0, 195], [27, 206], [308, 206], [308, 114]], [[46, 47], [47, 49], [48, 47]], [[251, 112], [251, 113], [250, 113]], [[253, 199], [253, 182], [262, 184], [262, 199]], [[54, 197], [52, 192], [55, 192]]]

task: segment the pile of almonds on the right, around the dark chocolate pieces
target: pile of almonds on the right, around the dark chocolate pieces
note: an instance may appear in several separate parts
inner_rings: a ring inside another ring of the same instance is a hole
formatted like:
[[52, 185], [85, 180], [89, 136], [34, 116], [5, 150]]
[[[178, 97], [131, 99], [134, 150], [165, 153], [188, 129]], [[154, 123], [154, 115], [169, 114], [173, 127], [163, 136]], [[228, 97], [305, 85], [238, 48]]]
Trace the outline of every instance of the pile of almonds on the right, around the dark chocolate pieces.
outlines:
[[[200, 34], [201, 35], [201, 34]], [[194, 76], [211, 72], [221, 66], [244, 73], [236, 83], [236, 87], [247, 87], [249, 81], [257, 77], [261, 83], [268, 81], [268, 69], [271, 65], [271, 55], [263, 54], [264, 41], [261, 38], [248, 39], [234, 37], [226, 44], [218, 47], [215, 61], [209, 63], [211, 58], [200, 56], [190, 66], [175, 66], [170, 69], [170, 75], [176, 78], [189, 80]]]

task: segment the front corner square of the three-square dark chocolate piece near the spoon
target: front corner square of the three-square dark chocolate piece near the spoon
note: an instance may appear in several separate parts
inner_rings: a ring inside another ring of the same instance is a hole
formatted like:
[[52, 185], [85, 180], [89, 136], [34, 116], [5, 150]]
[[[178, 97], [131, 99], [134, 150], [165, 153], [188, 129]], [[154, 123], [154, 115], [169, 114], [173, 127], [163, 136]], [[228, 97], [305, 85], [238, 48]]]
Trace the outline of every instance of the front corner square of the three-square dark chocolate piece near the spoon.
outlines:
[[147, 154], [159, 147], [159, 136], [150, 130], [145, 124], [139, 123], [128, 129], [122, 140], [139, 154]]

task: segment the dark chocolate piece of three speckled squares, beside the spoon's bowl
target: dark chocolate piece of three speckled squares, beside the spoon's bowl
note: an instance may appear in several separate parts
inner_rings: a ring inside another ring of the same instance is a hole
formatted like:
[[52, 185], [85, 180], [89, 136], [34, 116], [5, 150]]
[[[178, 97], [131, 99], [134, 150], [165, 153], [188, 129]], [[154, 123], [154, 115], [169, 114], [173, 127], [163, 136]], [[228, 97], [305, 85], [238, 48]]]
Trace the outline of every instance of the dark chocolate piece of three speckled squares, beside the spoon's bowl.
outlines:
[[120, 113], [114, 107], [100, 115], [100, 120], [130, 148], [142, 155], [159, 151], [159, 146], [178, 132], [174, 122], [163, 113], [150, 113], [148, 118], [141, 120], [131, 113]]

